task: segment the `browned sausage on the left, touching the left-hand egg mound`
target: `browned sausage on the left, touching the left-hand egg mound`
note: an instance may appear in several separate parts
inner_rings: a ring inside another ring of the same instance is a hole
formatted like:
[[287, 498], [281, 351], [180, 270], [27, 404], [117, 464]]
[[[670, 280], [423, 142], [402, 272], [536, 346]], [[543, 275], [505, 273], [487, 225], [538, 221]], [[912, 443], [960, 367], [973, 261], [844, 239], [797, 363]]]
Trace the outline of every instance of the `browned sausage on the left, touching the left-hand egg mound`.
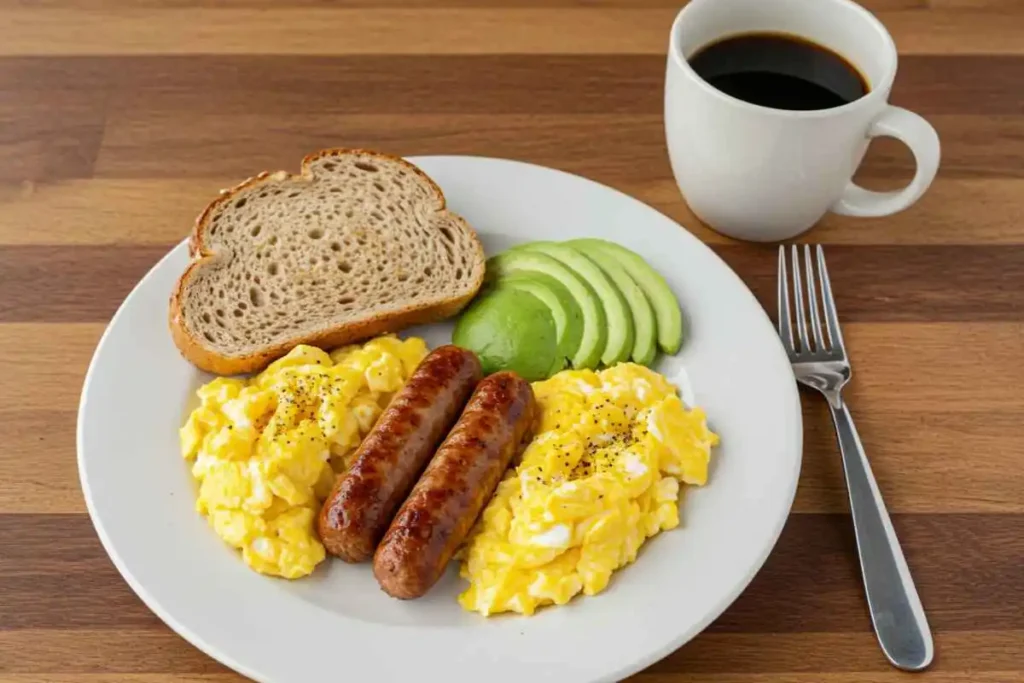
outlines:
[[482, 372], [472, 351], [440, 346], [413, 371], [338, 478], [317, 518], [328, 552], [364, 562], [423, 472]]

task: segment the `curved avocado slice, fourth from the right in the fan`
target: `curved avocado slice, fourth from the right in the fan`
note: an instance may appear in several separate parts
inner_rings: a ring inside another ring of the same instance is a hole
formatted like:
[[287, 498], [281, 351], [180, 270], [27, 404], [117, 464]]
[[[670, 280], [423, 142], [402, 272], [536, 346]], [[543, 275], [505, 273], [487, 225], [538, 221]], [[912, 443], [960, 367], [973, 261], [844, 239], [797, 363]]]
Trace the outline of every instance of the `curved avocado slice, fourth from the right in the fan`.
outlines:
[[607, 338], [604, 308], [590, 286], [571, 268], [545, 254], [513, 249], [487, 259], [485, 278], [490, 284], [511, 273], [540, 272], [564, 287], [580, 308], [582, 332], [580, 345], [571, 355], [572, 367], [593, 369], [601, 360]]

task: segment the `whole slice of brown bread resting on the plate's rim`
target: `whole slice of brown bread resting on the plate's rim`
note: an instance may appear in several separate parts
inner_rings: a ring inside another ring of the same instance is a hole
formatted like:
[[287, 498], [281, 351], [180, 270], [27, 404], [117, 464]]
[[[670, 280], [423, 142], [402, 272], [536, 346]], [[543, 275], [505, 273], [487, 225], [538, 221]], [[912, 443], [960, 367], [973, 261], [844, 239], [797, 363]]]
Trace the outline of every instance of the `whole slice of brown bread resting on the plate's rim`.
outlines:
[[326, 150], [299, 175], [261, 173], [196, 221], [171, 295], [182, 355], [219, 375], [297, 344], [332, 347], [459, 312], [483, 282], [483, 247], [413, 164]]

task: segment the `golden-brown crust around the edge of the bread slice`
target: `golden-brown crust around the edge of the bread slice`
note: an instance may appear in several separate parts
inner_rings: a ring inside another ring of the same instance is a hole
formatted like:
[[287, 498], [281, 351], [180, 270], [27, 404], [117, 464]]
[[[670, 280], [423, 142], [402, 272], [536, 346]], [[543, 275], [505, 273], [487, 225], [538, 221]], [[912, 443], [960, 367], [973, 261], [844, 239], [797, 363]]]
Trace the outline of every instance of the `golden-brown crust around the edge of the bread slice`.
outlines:
[[191, 261], [185, 268], [184, 272], [182, 272], [178, 278], [177, 283], [174, 286], [174, 291], [171, 293], [170, 297], [168, 325], [171, 332], [171, 338], [174, 340], [175, 346], [178, 347], [181, 355], [184, 356], [186, 360], [200, 370], [205, 370], [215, 375], [241, 375], [245, 373], [252, 373], [262, 370], [268, 364], [288, 353], [298, 344], [309, 344], [311, 346], [318, 346], [322, 348], [332, 348], [388, 332], [397, 332], [398, 330], [413, 325], [435, 323], [446, 317], [452, 317], [462, 310], [466, 304], [468, 304], [469, 301], [476, 296], [476, 293], [483, 284], [483, 245], [480, 243], [476, 231], [473, 230], [465, 219], [450, 212], [450, 215], [458, 218], [463, 223], [469, 234], [473, 237], [473, 243], [476, 246], [477, 263], [474, 265], [479, 267], [474, 268], [474, 270], [478, 273], [478, 276], [475, 282], [470, 284], [470, 288], [466, 294], [451, 297], [430, 306], [410, 305], [386, 314], [382, 313], [374, 315], [365, 321], [346, 323], [333, 328], [316, 330], [304, 335], [296, 335], [291, 339], [245, 355], [224, 355], [223, 353], [210, 348], [208, 344], [204, 343], [203, 340], [198, 339], [196, 335], [193, 334], [186, 325], [186, 316], [184, 315], [184, 311], [182, 309], [182, 294], [188, 286], [189, 279], [193, 274], [200, 268], [206, 267], [214, 258], [213, 252], [209, 251], [204, 244], [204, 238], [206, 236], [206, 229], [208, 227], [210, 217], [213, 215], [215, 210], [222, 204], [233, 201], [236, 196], [238, 196], [241, 191], [257, 185], [295, 179], [312, 182], [313, 175], [310, 167], [315, 161], [325, 157], [341, 157], [348, 155], [377, 157], [392, 163], [401, 164], [410, 171], [416, 173], [433, 188], [438, 202], [438, 211], [447, 210], [444, 194], [441, 191], [437, 183], [434, 182], [433, 179], [424, 173], [420, 168], [404, 159], [401, 159], [400, 157], [370, 150], [345, 147], [322, 150], [321, 152], [306, 156], [302, 160], [299, 175], [290, 174], [286, 171], [278, 171], [275, 173], [264, 171], [244, 180], [230, 189], [221, 190], [220, 197], [211, 202], [196, 219], [196, 224], [188, 238], [188, 255], [191, 258]]

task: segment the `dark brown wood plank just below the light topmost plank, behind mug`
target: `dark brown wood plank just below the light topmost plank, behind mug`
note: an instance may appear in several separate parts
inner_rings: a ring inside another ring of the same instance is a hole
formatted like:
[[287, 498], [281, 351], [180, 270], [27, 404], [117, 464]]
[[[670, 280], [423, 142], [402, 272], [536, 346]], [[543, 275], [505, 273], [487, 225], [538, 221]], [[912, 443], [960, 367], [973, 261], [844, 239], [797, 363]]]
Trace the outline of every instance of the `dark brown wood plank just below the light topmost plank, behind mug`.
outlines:
[[[922, 115], [1015, 115], [1024, 56], [905, 54], [896, 103]], [[0, 89], [112, 97], [117, 109], [175, 113], [646, 114], [662, 111], [665, 57], [655, 55], [180, 55], [0, 59]], [[347, 96], [373, 82], [373, 96]], [[594, 87], [600, 85], [601, 87]], [[462, 86], [462, 87], [459, 87]], [[530, 97], [519, 96], [523, 88]], [[567, 92], [572, 93], [567, 96]], [[31, 112], [24, 112], [26, 116]]]

